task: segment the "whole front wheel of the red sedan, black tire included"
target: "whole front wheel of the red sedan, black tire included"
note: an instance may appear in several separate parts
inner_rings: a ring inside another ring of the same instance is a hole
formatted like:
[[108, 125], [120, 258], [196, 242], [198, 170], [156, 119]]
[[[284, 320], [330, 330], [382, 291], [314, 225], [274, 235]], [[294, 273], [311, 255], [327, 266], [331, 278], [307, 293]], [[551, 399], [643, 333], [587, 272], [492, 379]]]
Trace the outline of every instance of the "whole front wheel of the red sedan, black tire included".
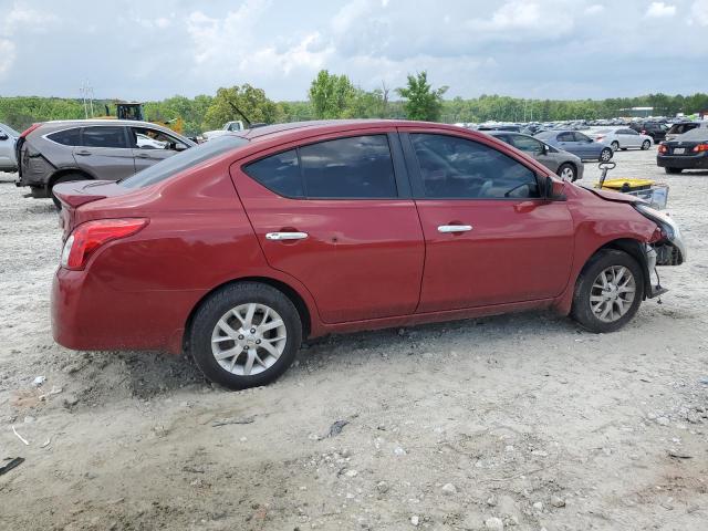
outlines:
[[[603, 273], [606, 289], [600, 287]], [[628, 289], [634, 291], [622, 291]], [[571, 316], [590, 332], [614, 332], [634, 317], [643, 300], [644, 272], [637, 261], [624, 251], [604, 249], [587, 261], [577, 277]]]

